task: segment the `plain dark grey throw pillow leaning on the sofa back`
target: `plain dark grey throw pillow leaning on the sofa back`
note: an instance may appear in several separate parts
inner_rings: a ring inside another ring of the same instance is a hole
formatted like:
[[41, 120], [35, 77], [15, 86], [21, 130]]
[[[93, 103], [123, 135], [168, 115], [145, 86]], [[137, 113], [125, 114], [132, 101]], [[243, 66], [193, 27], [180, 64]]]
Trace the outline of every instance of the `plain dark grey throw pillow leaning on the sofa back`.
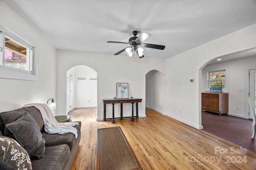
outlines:
[[38, 124], [32, 116], [24, 113], [23, 116], [5, 125], [4, 135], [16, 139], [28, 152], [30, 158], [43, 158], [45, 141]]

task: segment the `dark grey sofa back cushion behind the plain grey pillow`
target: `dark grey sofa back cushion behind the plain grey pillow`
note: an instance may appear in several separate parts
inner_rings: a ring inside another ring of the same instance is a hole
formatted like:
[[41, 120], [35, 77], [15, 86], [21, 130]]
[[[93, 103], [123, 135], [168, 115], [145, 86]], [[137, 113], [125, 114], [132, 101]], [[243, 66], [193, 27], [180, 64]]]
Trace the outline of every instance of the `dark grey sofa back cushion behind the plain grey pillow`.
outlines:
[[16, 110], [12, 110], [12, 111], [5, 111], [5, 112], [0, 113], [0, 131], [2, 131], [2, 133], [4, 134], [5, 125], [18, 120], [20, 117], [22, 117], [22, 115], [25, 112], [30, 114], [35, 119], [40, 131], [43, 131], [44, 130], [44, 121], [43, 121], [42, 115], [41, 115], [40, 111], [34, 106], [26, 107], [26, 108], [22, 108], [22, 109], [16, 109]]

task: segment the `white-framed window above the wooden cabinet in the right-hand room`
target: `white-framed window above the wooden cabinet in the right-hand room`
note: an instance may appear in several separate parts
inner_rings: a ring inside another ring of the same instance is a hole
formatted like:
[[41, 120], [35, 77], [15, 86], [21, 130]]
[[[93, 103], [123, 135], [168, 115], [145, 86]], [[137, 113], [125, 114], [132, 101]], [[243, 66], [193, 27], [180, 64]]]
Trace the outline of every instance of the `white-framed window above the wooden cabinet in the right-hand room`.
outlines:
[[209, 91], [211, 87], [222, 88], [222, 92], [228, 92], [229, 90], [229, 68], [216, 68], [206, 70], [206, 91]]

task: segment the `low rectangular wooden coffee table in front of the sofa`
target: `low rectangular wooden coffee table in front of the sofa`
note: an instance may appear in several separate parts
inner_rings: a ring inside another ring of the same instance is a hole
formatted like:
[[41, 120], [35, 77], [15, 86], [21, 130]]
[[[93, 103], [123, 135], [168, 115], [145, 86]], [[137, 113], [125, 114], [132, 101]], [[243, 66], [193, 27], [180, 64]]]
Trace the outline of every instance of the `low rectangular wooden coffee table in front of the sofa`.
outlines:
[[96, 170], [142, 170], [122, 129], [97, 129]]

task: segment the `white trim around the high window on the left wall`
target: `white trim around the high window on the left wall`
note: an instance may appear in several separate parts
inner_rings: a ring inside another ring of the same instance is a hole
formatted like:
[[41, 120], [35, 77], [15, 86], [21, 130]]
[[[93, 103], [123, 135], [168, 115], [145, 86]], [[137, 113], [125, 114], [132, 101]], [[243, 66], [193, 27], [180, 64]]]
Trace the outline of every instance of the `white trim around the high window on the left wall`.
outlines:
[[[0, 25], [0, 31], [2, 31], [3, 33], [6, 33], [7, 35], [13, 35], [14, 37], [17, 37], [18, 39], [24, 41], [26, 44], [33, 47], [33, 63], [32, 63], [33, 70], [32, 70], [32, 73], [24, 72], [23, 70], [19, 71], [17, 69], [6, 68], [4, 66], [0, 66], [0, 78], [38, 81], [39, 80], [39, 55], [40, 55], [38, 43], [36, 43], [36, 41], [31, 39], [24, 33], [22, 33], [16, 27], [10, 25], [7, 21], [0, 20], [0, 23], [5, 25], [5, 26]], [[1, 46], [1, 44], [0, 44], [0, 46]], [[2, 52], [4, 53], [3, 47], [2, 47]], [[4, 57], [2, 53], [1, 53], [1, 55], [2, 55], [2, 57]], [[0, 57], [0, 59], [2, 59], [2, 57]]]

